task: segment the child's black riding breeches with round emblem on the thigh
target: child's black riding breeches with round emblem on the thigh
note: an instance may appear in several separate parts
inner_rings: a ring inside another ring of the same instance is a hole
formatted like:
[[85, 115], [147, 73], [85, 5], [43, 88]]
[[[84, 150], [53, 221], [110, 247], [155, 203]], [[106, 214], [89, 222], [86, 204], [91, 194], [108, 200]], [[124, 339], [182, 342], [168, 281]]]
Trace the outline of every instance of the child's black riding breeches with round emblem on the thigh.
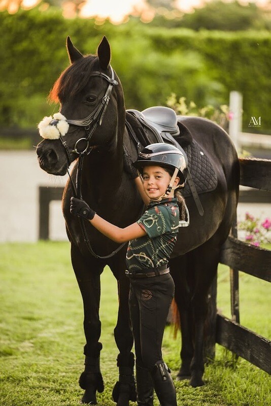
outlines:
[[175, 285], [171, 274], [130, 279], [129, 310], [137, 364], [151, 370], [162, 360], [162, 340]]

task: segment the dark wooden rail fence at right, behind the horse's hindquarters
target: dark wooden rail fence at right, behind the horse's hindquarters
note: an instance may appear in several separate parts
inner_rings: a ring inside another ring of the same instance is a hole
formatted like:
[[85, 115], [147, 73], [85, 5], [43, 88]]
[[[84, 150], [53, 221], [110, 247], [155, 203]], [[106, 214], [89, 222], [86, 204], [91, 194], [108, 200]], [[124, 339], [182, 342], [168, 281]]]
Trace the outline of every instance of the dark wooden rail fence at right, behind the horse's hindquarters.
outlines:
[[[240, 184], [264, 189], [271, 198], [271, 160], [239, 159]], [[259, 190], [260, 192], [260, 190]], [[240, 325], [239, 270], [271, 282], [271, 251], [237, 239], [236, 224], [224, 244], [220, 262], [230, 267], [231, 320], [216, 315], [216, 343], [271, 374], [271, 341]]]

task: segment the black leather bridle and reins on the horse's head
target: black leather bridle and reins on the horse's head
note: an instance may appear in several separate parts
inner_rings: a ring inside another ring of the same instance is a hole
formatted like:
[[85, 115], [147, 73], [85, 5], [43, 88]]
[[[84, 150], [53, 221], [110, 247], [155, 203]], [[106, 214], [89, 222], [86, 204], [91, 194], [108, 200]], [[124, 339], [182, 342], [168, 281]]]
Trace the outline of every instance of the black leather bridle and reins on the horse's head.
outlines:
[[[87, 117], [85, 117], [81, 120], [66, 120], [67, 123], [69, 123], [71, 125], [75, 125], [78, 127], [84, 127], [85, 131], [86, 131], [85, 137], [77, 140], [75, 143], [74, 149], [72, 150], [72, 153], [76, 153], [79, 155], [78, 168], [77, 168], [77, 174], [76, 174], [76, 185], [74, 185], [74, 182], [71, 178], [69, 170], [67, 171], [67, 173], [69, 174], [70, 180], [71, 180], [73, 194], [79, 199], [82, 198], [81, 178], [82, 178], [83, 159], [84, 159], [85, 154], [89, 154], [92, 149], [91, 147], [89, 147], [89, 140], [91, 139], [97, 126], [101, 125], [101, 122], [103, 121], [103, 118], [104, 118], [104, 115], [105, 115], [105, 112], [106, 112], [106, 109], [107, 109], [107, 106], [108, 106], [108, 103], [110, 100], [110, 95], [111, 95], [113, 86], [118, 85], [118, 82], [115, 80], [114, 71], [111, 66], [110, 66], [110, 69], [111, 69], [111, 77], [109, 77], [108, 75], [106, 75], [102, 72], [92, 72], [90, 74], [90, 76], [97, 76], [97, 77], [103, 78], [107, 82], [109, 82], [106, 93], [105, 93], [104, 97], [101, 99], [98, 106]], [[54, 121], [57, 121], [57, 120], [53, 120], [50, 124], [54, 125], [55, 124]], [[72, 159], [71, 159], [69, 147], [66, 145], [66, 141], [64, 141], [63, 136], [61, 134], [59, 136], [59, 139], [65, 149], [67, 159], [69, 161], [69, 166], [70, 166], [70, 164], [72, 163]], [[81, 150], [80, 150], [80, 144], [83, 145]], [[89, 238], [87, 235], [84, 219], [79, 217], [79, 220], [80, 220], [82, 232], [84, 235], [84, 241], [85, 241], [91, 255], [93, 255], [95, 258], [100, 258], [100, 259], [110, 258], [113, 255], [115, 255], [118, 251], [120, 251], [121, 248], [124, 247], [124, 245], [126, 244], [126, 243], [121, 244], [115, 251], [113, 251], [111, 254], [106, 255], [106, 256], [99, 256], [99, 255], [95, 254], [95, 252], [92, 250], [92, 247], [90, 245], [90, 241], [89, 241]]]

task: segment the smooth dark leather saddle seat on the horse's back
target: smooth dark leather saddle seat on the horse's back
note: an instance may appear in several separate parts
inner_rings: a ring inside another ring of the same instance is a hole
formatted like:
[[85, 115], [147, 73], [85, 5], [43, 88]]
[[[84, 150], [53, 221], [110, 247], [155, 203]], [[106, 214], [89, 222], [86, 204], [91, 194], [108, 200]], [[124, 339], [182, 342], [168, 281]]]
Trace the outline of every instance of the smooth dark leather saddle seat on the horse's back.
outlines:
[[163, 142], [163, 134], [170, 133], [173, 137], [180, 134], [177, 115], [174, 110], [168, 107], [149, 107], [142, 112], [138, 110], [126, 110], [137, 118], [143, 127], [155, 132], [157, 142]]

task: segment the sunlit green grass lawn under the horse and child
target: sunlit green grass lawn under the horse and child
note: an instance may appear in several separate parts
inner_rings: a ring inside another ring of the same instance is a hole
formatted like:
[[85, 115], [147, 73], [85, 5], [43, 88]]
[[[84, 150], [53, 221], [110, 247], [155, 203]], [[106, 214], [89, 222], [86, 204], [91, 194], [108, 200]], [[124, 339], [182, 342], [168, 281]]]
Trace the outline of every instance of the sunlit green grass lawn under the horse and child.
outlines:
[[[0, 405], [74, 406], [83, 391], [78, 385], [84, 356], [81, 295], [70, 261], [69, 243], [0, 245]], [[101, 371], [106, 389], [98, 403], [113, 406], [118, 378], [113, 329], [117, 315], [117, 285], [109, 268], [101, 275], [103, 343]], [[218, 308], [230, 316], [229, 275], [220, 266]], [[270, 290], [267, 282], [240, 273], [240, 312], [244, 326], [271, 337]], [[179, 368], [180, 334], [166, 327], [163, 354]], [[180, 406], [268, 406], [271, 380], [243, 359], [217, 345], [216, 360], [206, 367], [206, 386], [176, 383]], [[135, 404], [135, 403], [133, 403]], [[155, 405], [158, 401], [155, 400]]]

